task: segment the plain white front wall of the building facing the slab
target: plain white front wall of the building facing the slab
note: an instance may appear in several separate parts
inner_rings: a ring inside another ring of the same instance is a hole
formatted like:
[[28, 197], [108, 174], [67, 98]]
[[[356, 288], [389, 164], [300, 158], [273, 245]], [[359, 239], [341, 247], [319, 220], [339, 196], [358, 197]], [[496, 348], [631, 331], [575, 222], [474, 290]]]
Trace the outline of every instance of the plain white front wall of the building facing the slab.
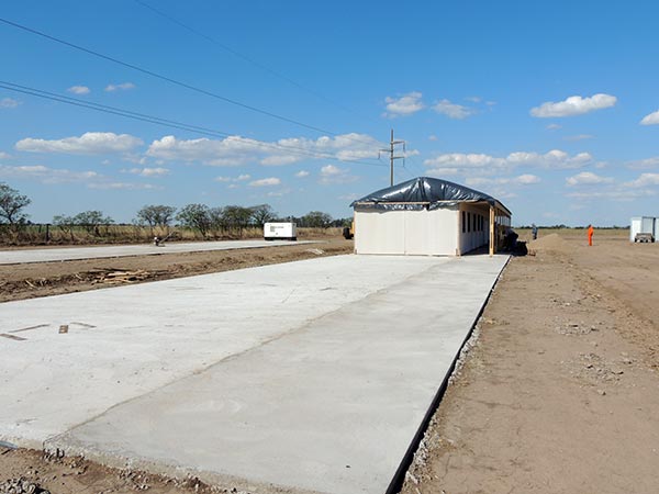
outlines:
[[356, 211], [357, 254], [455, 256], [458, 207], [434, 211]]

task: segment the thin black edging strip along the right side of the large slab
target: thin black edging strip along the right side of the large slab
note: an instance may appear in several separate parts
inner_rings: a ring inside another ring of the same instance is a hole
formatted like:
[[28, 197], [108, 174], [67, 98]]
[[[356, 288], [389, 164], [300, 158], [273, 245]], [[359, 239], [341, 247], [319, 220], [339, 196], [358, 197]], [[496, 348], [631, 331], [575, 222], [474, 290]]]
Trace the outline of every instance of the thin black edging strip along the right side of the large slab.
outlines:
[[476, 328], [476, 325], [478, 324], [485, 307], [488, 306], [488, 303], [490, 302], [490, 297], [492, 296], [492, 292], [494, 292], [494, 289], [499, 284], [499, 280], [501, 279], [503, 271], [505, 271], [505, 268], [507, 267], [509, 262], [511, 261], [511, 258], [512, 258], [512, 256], [509, 256], [505, 263], [502, 266], [501, 271], [499, 271], [499, 274], [496, 274], [496, 279], [494, 280], [494, 283], [492, 283], [492, 287], [490, 288], [490, 291], [488, 292], [488, 296], [483, 301], [483, 304], [482, 304], [480, 311], [478, 312], [473, 322], [471, 323], [471, 327], [469, 328], [467, 336], [460, 344], [460, 348], [458, 348], [458, 351], [456, 352], [456, 355], [453, 359], [453, 362], [450, 363], [450, 367], [448, 368], [448, 372], [444, 377], [444, 380], [442, 381], [442, 384], [439, 385], [437, 393], [435, 393], [435, 397], [431, 402], [431, 406], [428, 407], [427, 412], [425, 413], [423, 420], [421, 422], [421, 425], [418, 426], [418, 429], [416, 430], [416, 434], [414, 434], [414, 437], [412, 438], [412, 442], [410, 442], [410, 446], [407, 447], [407, 450], [405, 451], [405, 454], [403, 456], [403, 459], [401, 460], [399, 468], [396, 469], [395, 473], [393, 474], [393, 478], [391, 479], [391, 482], [389, 483], [389, 487], [387, 487], [387, 491], [384, 494], [398, 494], [398, 493], [400, 493], [401, 489], [403, 487], [403, 483], [405, 482], [405, 474], [407, 473], [407, 470], [410, 470], [410, 467], [412, 465], [412, 462], [414, 461], [414, 453], [418, 449], [418, 446], [421, 445], [421, 441], [424, 438], [426, 430], [428, 429], [428, 426], [431, 424], [431, 420], [433, 419], [433, 416], [435, 415], [435, 413], [439, 408], [439, 405], [442, 404], [442, 398], [444, 397], [444, 394], [446, 393], [446, 390], [448, 388], [448, 382], [456, 369], [456, 364], [458, 362], [458, 359], [460, 358], [460, 352], [462, 351], [462, 348], [465, 348], [465, 345], [467, 344], [467, 341], [469, 341], [469, 339], [471, 338], [471, 335], [473, 334], [473, 329]]

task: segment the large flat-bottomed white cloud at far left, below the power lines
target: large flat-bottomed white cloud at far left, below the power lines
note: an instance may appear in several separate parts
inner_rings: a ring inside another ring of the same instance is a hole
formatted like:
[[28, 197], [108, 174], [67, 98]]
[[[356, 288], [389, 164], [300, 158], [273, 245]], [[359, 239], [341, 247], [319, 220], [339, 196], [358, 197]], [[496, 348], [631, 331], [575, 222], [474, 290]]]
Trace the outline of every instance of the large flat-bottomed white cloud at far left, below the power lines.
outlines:
[[144, 144], [142, 139], [129, 134], [112, 132], [87, 132], [80, 137], [46, 141], [25, 138], [19, 141], [15, 148], [30, 153], [64, 153], [69, 155], [103, 155], [110, 153], [129, 153]]

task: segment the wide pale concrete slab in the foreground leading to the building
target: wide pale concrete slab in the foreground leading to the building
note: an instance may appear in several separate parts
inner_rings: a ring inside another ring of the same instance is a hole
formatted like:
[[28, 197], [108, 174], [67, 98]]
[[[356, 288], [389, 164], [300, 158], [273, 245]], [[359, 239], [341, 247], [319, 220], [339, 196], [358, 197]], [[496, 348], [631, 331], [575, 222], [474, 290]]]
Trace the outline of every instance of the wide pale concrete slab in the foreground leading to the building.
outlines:
[[338, 256], [0, 304], [0, 439], [383, 493], [506, 260]]

